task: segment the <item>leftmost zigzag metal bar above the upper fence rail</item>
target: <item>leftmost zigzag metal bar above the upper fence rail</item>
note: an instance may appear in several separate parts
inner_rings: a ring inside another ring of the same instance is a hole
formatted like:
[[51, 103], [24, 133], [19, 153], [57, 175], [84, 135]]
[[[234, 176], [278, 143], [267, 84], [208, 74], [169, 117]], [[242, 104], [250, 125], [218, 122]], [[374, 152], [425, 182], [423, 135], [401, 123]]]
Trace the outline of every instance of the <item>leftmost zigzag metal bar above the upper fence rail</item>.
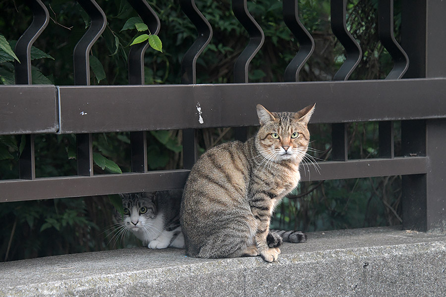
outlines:
[[26, 0], [26, 5], [33, 12], [33, 22], [26, 29], [15, 45], [15, 54], [20, 63], [15, 61], [15, 83], [31, 85], [31, 46], [45, 30], [50, 20], [47, 7], [41, 0]]

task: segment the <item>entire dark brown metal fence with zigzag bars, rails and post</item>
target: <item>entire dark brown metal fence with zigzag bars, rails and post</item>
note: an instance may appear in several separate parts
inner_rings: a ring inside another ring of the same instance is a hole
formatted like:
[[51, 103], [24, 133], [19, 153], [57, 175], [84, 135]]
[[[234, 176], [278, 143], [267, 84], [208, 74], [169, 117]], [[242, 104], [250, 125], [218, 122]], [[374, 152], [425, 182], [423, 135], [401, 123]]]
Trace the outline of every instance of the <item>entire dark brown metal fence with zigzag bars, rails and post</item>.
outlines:
[[[284, 83], [248, 83], [249, 63], [261, 50], [264, 34], [248, 12], [246, 0], [232, 0], [234, 15], [249, 34], [249, 44], [234, 65], [234, 83], [197, 85], [195, 63], [211, 40], [212, 27], [194, 0], [180, 0], [198, 31], [182, 60], [182, 85], [143, 86], [143, 56], [148, 47], [143, 43], [130, 50], [129, 85], [89, 86], [89, 51], [107, 20], [94, 0], [77, 1], [89, 14], [91, 25], [73, 52], [75, 86], [31, 85], [30, 48], [45, 30], [49, 13], [40, 0], [27, 1], [34, 20], [15, 48], [22, 61], [16, 63], [16, 85], [0, 86], [0, 135], [26, 135], [27, 142], [19, 160], [20, 178], [0, 180], [0, 202], [182, 188], [197, 158], [195, 129], [237, 127], [236, 135], [243, 138], [243, 127], [258, 124], [253, 112], [256, 103], [271, 110], [298, 110], [316, 102], [312, 123], [333, 125], [333, 161], [319, 162], [320, 174], [310, 168], [304, 180], [402, 175], [404, 228], [445, 228], [445, 2], [402, 1], [400, 46], [393, 36], [393, 1], [379, 0], [379, 37], [394, 67], [386, 80], [347, 81], [362, 52], [347, 30], [347, 1], [332, 0], [331, 26], [345, 48], [346, 60], [335, 81], [297, 82], [314, 41], [299, 21], [298, 1], [283, 0], [284, 22], [300, 49], [285, 70]], [[128, 1], [156, 34], [160, 21], [149, 4]], [[159, 100], [149, 102], [147, 94]], [[402, 157], [393, 152], [395, 120], [401, 121]], [[363, 121], [379, 121], [380, 157], [349, 160], [346, 123]], [[144, 131], [171, 129], [184, 129], [184, 169], [148, 171]], [[132, 172], [94, 175], [91, 134], [120, 131], [131, 132]], [[76, 134], [77, 175], [36, 178], [34, 135], [68, 133]]]

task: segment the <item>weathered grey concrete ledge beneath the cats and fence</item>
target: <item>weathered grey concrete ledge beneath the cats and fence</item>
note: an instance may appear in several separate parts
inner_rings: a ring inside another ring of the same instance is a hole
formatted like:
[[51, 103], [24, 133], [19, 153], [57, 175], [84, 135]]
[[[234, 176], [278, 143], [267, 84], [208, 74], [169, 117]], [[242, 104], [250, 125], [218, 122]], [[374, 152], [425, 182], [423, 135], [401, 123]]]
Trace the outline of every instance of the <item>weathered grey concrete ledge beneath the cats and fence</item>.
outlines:
[[183, 249], [0, 263], [0, 296], [446, 296], [446, 234], [368, 228], [308, 235], [279, 260], [196, 259]]

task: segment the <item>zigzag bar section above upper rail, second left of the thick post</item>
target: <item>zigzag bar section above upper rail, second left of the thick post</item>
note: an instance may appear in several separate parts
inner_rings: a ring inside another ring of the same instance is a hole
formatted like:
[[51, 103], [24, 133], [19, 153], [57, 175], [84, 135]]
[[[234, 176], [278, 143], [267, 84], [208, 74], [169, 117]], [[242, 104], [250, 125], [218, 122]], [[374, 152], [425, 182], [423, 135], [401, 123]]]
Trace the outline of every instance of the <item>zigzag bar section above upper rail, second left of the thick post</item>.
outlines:
[[356, 40], [347, 31], [346, 25], [346, 11], [345, 7], [347, 0], [332, 0], [331, 1], [331, 25], [333, 34], [342, 44], [346, 51], [346, 59], [336, 72], [333, 80], [347, 80], [362, 57], [362, 50]]

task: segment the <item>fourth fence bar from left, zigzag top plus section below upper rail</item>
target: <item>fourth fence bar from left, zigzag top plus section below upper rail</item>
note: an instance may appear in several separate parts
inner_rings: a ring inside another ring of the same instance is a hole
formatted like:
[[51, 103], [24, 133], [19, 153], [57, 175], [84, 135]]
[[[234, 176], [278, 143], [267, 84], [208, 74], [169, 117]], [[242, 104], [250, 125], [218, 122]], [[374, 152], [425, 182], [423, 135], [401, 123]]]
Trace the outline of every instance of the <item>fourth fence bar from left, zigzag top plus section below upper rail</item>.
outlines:
[[[196, 84], [197, 59], [207, 45], [211, 42], [212, 27], [208, 20], [198, 10], [195, 0], [180, 0], [181, 9], [197, 28], [198, 37], [190, 49], [186, 51], [181, 61], [181, 83]], [[191, 169], [198, 157], [197, 131], [185, 129], [183, 137], [183, 167]]]

